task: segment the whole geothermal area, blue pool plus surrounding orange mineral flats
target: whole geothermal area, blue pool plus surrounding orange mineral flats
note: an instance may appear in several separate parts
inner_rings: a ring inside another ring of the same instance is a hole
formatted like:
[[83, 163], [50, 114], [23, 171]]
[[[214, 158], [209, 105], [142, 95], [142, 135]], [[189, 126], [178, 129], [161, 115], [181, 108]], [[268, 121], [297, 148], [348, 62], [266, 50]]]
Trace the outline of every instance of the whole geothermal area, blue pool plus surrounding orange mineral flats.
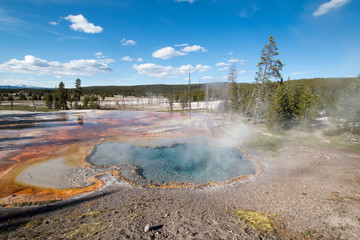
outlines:
[[261, 167], [220, 121], [145, 111], [0, 112], [0, 205], [94, 191], [109, 174], [144, 187], [256, 176]]

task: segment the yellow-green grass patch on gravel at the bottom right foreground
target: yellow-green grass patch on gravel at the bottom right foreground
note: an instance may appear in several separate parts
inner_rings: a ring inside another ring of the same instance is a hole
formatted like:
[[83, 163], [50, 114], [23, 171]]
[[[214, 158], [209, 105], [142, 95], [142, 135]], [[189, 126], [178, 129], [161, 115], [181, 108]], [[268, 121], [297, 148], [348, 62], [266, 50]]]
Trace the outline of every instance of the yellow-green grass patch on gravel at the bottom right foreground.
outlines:
[[248, 226], [262, 232], [273, 232], [276, 229], [272, 220], [274, 216], [263, 212], [235, 210], [235, 215], [239, 221], [243, 221]]

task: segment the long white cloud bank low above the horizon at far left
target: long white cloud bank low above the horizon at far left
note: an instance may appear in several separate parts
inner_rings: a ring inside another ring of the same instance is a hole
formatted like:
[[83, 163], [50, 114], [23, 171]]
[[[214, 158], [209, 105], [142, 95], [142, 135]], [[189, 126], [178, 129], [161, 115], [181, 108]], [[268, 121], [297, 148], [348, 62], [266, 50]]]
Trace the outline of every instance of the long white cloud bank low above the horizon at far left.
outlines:
[[99, 72], [112, 72], [113, 70], [107, 65], [112, 61], [112, 59], [79, 59], [60, 63], [48, 62], [32, 55], [26, 55], [24, 60], [13, 58], [0, 64], [0, 72], [54, 75], [56, 77], [92, 76]]

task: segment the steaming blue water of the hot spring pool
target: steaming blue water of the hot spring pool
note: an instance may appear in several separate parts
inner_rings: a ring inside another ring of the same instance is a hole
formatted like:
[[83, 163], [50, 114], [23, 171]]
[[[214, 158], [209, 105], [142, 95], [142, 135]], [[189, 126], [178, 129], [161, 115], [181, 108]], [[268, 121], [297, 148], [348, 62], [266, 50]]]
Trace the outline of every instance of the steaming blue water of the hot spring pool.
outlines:
[[256, 172], [252, 162], [235, 147], [203, 143], [141, 147], [105, 142], [96, 146], [88, 161], [96, 166], [129, 163], [139, 168], [143, 178], [156, 183], [224, 182]]

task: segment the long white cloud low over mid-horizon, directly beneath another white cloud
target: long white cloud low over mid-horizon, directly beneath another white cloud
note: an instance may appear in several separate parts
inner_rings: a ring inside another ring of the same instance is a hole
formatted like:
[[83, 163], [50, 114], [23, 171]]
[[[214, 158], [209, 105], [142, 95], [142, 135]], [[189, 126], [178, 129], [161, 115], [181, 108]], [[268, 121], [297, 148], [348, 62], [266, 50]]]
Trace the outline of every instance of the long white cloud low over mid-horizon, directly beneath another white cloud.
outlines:
[[139, 74], [146, 75], [149, 77], [156, 78], [175, 78], [181, 75], [185, 75], [194, 72], [205, 72], [210, 70], [210, 66], [204, 66], [198, 64], [196, 66], [191, 65], [182, 65], [181, 67], [172, 67], [172, 66], [161, 66], [154, 63], [144, 63], [144, 64], [134, 64], [132, 66]]

